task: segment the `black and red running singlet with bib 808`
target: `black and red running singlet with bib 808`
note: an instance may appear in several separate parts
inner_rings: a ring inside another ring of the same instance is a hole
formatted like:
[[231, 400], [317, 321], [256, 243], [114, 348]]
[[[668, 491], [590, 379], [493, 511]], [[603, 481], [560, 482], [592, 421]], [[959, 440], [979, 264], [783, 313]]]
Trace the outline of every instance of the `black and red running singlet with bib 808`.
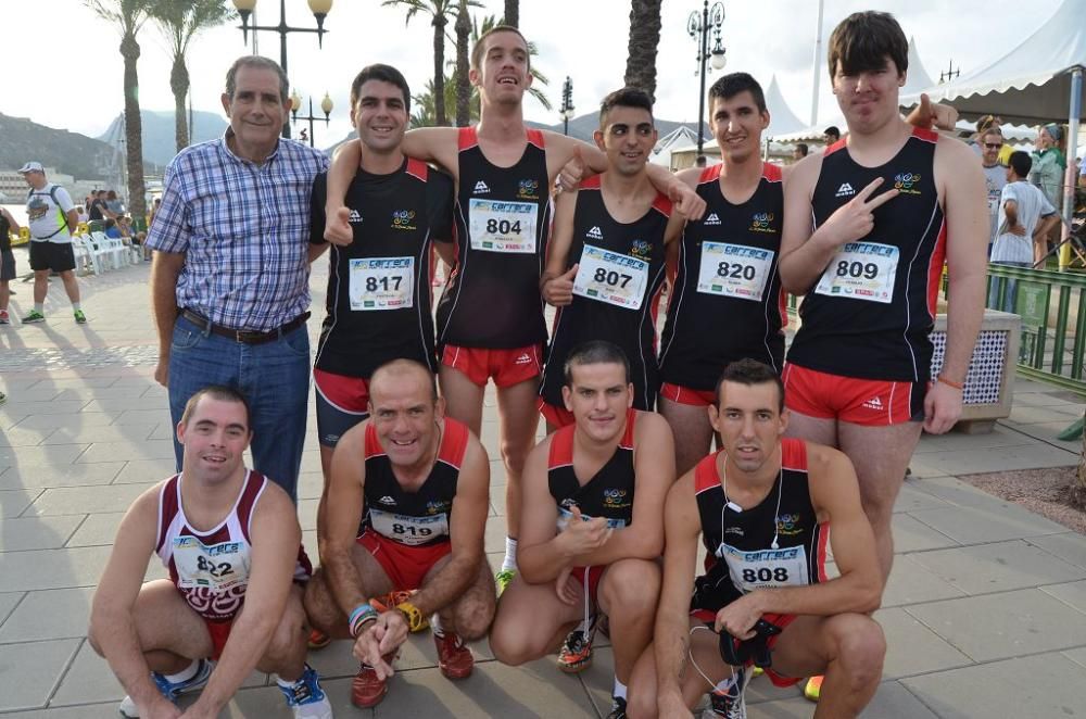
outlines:
[[705, 573], [694, 581], [692, 609], [717, 611], [753, 590], [826, 581], [830, 522], [811, 505], [807, 444], [781, 440], [781, 474], [757, 506], [742, 512], [728, 496], [710, 454], [694, 469], [694, 492], [705, 543]]

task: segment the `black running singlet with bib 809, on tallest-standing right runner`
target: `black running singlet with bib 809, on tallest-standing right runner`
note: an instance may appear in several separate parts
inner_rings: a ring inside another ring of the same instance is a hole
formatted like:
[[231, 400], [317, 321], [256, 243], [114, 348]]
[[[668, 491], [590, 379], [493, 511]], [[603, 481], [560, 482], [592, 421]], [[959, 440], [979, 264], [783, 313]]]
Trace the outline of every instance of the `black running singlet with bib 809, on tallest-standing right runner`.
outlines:
[[914, 129], [880, 167], [863, 167], [845, 141], [826, 150], [811, 197], [818, 227], [876, 177], [900, 194], [874, 211], [867, 236], [837, 250], [799, 308], [788, 362], [818, 371], [893, 381], [930, 379], [946, 223], [933, 178], [938, 135]]

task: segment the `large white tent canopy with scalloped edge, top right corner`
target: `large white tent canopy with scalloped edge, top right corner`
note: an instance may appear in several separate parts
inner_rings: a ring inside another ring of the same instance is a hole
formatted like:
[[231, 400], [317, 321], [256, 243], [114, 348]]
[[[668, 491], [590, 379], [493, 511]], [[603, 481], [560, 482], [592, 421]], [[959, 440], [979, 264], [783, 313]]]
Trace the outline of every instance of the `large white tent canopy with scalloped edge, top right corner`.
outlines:
[[[1064, 121], [1075, 67], [1086, 67], [1086, 2], [1064, 0], [1047, 23], [1002, 58], [923, 91], [970, 119], [993, 114], [1020, 124]], [[1077, 91], [1078, 119], [1086, 119], [1081, 84]], [[902, 106], [919, 101], [920, 90], [901, 93]]]

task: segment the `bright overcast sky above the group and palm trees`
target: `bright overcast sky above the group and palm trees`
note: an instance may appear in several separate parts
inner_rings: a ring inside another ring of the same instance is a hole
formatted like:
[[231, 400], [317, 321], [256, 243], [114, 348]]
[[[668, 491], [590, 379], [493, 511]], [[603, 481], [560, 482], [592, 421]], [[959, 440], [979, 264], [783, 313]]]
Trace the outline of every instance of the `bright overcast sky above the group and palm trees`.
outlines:
[[[480, 15], [501, 15], [501, 0], [483, 0], [483, 9], [476, 10]], [[968, 73], [1001, 56], [1048, 20], [1059, 4], [1060, 0], [1032, 0], [1025, 4], [1011, 0], [825, 0], [822, 34], [828, 37], [837, 22], [856, 10], [887, 10], [897, 16], [906, 35], [915, 38], [927, 74], [938, 79], [939, 71], [951, 61], [956, 68]], [[0, 5], [5, 40], [0, 112], [90, 136], [103, 133], [123, 105], [123, 62], [115, 29], [81, 0], [0, 0]], [[697, 48], [686, 33], [686, 20], [700, 7], [697, 0], [664, 0], [657, 58], [659, 117], [697, 119]], [[725, 72], [749, 72], [763, 86], [775, 75], [796, 115], [809, 119], [818, 3], [732, 0], [724, 7]], [[276, 25], [279, 3], [260, 0], [256, 13], [261, 24]], [[315, 26], [305, 0], [287, 0], [287, 20], [295, 26]], [[521, 0], [520, 27], [539, 47], [534, 64], [551, 80], [545, 91], [555, 106], [548, 112], [529, 99], [529, 119], [558, 122], [561, 84], [567, 75], [573, 80], [578, 114], [593, 111], [604, 94], [622, 85], [628, 2]], [[351, 79], [364, 65], [396, 65], [413, 88], [421, 88], [432, 76], [432, 30], [427, 17], [417, 16], [405, 26], [403, 11], [383, 8], [379, 0], [334, 0], [326, 28], [330, 31], [319, 51], [314, 34], [295, 33], [288, 38], [291, 84], [303, 99], [313, 97], [316, 114], [325, 91], [336, 103], [331, 128], [317, 130], [318, 144], [329, 144], [350, 129], [348, 92]], [[166, 43], [151, 24], [144, 26], [138, 39], [142, 47], [140, 103], [147, 110], [172, 110]], [[250, 49], [251, 43], [252, 36]], [[261, 54], [279, 59], [278, 34], [261, 33], [258, 43]], [[823, 42], [823, 52], [824, 47]], [[193, 40], [188, 58], [197, 110], [222, 112], [219, 94], [226, 68], [244, 52], [241, 31], [232, 24]], [[446, 43], [445, 52], [446, 59], [454, 59], [453, 42]], [[824, 60], [819, 61], [818, 70], [819, 117], [825, 118], [835, 115], [837, 109], [829, 91]]]

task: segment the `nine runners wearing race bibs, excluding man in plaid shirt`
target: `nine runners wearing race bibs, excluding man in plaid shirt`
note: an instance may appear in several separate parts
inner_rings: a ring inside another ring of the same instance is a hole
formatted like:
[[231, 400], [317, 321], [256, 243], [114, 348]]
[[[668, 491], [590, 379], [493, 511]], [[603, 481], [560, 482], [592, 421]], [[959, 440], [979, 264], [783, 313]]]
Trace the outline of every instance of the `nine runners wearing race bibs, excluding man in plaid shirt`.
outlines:
[[[244, 398], [194, 395], [182, 472], [126, 515], [94, 598], [90, 641], [128, 691], [122, 711], [213, 717], [258, 669], [295, 717], [330, 717], [305, 655], [339, 639], [362, 664], [352, 702], [371, 707], [409, 632], [429, 627], [450, 679], [472, 670], [466, 641], [489, 634], [509, 665], [557, 651], [579, 671], [606, 631], [613, 718], [690, 716], [706, 694], [743, 717], [756, 667], [809, 680], [816, 716], [858, 715], [882, 673], [870, 615], [894, 500], [921, 429], [959, 416], [983, 308], [981, 167], [929, 129], [945, 109], [901, 119], [907, 63], [888, 14], [843, 21], [829, 68], [848, 136], [788, 171], [760, 159], [760, 86], [725, 75], [708, 98], [722, 163], [677, 176], [647, 162], [657, 135], [636, 89], [603, 101], [596, 147], [528, 129], [515, 28], [472, 51], [476, 127], [406, 131], [403, 76], [364, 68], [358, 140], [313, 193], [311, 242], [331, 268], [314, 366], [320, 567], [287, 494], [243, 465]], [[435, 320], [432, 253], [452, 268]], [[944, 262], [952, 302], [932, 378]], [[787, 364], [786, 292], [805, 295]], [[479, 441], [490, 380], [506, 480], [496, 578]], [[142, 583], [152, 552], [171, 580]], [[200, 688], [182, 712], [177, 695]]]

